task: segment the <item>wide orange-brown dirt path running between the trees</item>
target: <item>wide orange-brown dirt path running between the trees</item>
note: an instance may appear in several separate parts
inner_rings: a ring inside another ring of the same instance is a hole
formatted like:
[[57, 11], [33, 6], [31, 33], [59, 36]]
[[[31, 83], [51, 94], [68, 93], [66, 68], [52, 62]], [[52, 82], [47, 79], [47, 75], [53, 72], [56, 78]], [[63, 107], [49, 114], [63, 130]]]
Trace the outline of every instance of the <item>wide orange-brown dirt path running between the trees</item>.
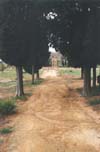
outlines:
[[84, 103], [75, 80], [55, 73], [15, 118], [6, 152], [100, 152], [100, 117]]

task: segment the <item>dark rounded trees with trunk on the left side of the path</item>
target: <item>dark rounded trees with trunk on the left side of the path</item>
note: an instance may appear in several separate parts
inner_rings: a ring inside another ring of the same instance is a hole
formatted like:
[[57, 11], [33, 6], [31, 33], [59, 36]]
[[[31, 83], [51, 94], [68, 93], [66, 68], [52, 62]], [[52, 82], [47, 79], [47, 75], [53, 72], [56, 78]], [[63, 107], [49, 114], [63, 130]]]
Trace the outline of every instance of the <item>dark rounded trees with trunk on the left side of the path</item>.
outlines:
[[[45, 22], [41, 9], [31, 0], [9, 0], [1, 4], [0, 58], [16, 66], [16, 95], [23, 91], [22, 67], [33, 67], [36, 72], [49, 58]], [[25, 68], [27, 69], [27, 68]], [[33, 71], [33, 70], [32, 70]], [[29, 72], [29, 71], [28, 71]]]

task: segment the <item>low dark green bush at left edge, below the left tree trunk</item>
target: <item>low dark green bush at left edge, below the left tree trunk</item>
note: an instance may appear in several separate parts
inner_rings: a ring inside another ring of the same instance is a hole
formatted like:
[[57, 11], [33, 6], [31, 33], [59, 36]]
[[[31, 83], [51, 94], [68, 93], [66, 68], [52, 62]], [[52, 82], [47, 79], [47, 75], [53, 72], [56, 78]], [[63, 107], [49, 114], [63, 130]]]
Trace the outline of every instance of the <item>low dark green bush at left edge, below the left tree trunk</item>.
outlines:
[[0, 101], [0, 114], [1, 115], [10, 115], [16, 112], [16, 103], [15, 100], [2, 100]]

